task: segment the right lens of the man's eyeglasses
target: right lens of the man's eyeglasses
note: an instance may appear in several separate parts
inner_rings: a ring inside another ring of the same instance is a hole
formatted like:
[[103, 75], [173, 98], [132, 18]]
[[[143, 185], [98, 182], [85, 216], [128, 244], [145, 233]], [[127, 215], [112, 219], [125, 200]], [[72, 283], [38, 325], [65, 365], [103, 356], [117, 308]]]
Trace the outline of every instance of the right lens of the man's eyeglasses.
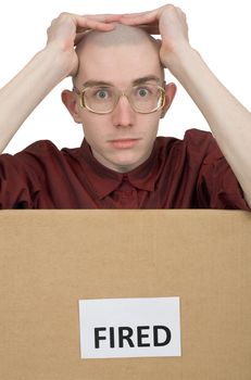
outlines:
[[150, 113], [164, 105], [163, 91], [154, 85], [133, 87], [129, 100], [134, 109], [141, 113]]

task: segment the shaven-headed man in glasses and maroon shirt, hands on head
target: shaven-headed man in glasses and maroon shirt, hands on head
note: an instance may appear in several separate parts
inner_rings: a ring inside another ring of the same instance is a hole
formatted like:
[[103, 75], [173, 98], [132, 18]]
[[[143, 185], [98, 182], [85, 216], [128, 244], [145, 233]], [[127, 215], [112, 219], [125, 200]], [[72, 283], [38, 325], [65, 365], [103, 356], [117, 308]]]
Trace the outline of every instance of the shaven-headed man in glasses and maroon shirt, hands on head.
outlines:
[[[156, 138], [176, 92], [163, 66], [197, 103], [217, 144], [199, 130], [184, 140]], [[68, 75], [74, 88], [62, 100], [83, 124], [85, 140], [78, 149], [59, 151], [40, 141], [3, 154], [2, 208], [250, 210], [251, 115], [190, 47], [180, 9], [61, 14], [48, 29], [47, 47], [1, 90], [2, 149]]]

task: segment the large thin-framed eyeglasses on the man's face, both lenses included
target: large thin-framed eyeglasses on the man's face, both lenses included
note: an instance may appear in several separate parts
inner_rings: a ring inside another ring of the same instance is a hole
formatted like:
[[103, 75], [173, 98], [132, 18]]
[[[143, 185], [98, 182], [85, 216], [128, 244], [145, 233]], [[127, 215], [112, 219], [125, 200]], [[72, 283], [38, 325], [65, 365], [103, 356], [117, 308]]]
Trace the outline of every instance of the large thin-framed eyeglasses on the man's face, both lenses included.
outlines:
[[126, 97], [133, 110], [141, 114], [161, 110], [165, 104], [165, 90], [155, 85], [137, 85], [125, 91], [113, 86], [85, 87], [81, 91], [74, 87], [73, 90], [80, 99], [80, 106], [96, 114], [113, 112], [121, 97]]

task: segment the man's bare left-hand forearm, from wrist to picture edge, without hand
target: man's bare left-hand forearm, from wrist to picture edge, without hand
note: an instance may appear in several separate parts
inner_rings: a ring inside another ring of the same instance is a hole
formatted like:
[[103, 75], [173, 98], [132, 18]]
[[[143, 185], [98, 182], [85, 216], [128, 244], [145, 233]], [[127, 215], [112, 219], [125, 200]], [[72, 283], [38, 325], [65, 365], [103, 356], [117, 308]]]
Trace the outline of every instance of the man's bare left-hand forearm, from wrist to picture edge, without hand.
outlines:
[[66, 76], [63, 62], [57, 47], [47, 47], [0, 90], [1, 152], [40, 101]]

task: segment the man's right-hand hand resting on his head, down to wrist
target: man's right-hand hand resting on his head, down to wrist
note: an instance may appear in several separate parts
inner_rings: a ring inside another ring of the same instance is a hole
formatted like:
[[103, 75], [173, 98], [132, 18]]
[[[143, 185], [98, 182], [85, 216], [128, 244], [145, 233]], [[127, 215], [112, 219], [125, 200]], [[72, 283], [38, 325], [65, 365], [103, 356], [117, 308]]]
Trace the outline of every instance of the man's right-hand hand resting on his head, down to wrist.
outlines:
[[142, 27], [151, 35], [161, 35], [161, 62], [168, 67], [168, 59], [184, 46], [189, 46], [185, 13], [177, 7], [164, 5], [153, 11], [122, 15], [125, 25]]

